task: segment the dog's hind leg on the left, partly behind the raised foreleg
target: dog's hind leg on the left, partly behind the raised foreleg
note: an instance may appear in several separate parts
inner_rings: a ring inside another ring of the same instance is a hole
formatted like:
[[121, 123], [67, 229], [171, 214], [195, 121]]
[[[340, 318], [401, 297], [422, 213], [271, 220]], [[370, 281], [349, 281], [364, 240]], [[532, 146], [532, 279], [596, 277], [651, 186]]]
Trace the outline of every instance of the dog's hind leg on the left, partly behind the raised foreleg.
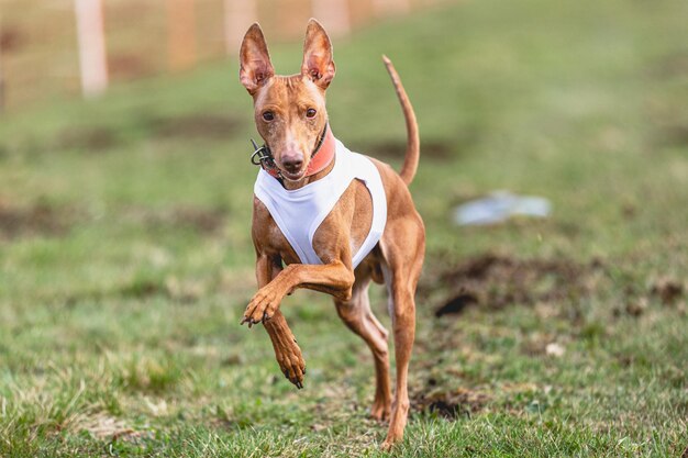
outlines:
[[370, 415], [377, 420], [387, 420], [391, 410], [388, 333], [370, 310], [369, 283], [369, 275], [362, 275], [357, 271], [351, 300], [335, 299], [334, 303], [342, 321], [349, 329], [358, 334], [373, 351], [376, 388]]

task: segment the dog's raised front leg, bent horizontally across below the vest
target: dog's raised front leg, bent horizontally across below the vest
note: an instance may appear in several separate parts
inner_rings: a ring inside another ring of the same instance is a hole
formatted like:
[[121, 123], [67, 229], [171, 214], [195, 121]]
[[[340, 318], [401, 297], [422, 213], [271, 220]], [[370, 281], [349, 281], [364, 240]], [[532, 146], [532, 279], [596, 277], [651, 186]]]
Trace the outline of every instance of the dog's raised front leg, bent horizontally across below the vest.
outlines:
[[347, 301], [353, 284], [354, 272], [341, 260], [325, 265], [290, 264], [253, 297], [242, 324], [266, 323], [275, 316], [282, 298], [297, 288], [326, 292]]

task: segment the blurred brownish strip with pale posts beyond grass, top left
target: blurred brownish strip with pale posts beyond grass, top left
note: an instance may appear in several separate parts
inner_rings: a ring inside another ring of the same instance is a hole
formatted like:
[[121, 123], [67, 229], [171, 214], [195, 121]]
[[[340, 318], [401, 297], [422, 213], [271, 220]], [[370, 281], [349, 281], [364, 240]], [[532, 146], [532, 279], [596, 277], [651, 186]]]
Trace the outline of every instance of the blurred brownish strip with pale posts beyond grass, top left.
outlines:
[[301, 37], [311, 16], [339, 37], [440, 1], [3, 0], [0, 109], [234, 57], [254, 21], [274, 42]]

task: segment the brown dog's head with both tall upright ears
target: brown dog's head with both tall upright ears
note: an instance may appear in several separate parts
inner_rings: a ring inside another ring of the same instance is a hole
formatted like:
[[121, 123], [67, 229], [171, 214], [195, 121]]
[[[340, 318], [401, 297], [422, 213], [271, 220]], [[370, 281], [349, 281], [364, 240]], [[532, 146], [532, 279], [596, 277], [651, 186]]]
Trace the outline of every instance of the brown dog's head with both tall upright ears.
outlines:
[[301, 72], [275, 75], [260, 26], [248, 29], [240, 52], [242, 85], [253, 97], [258, 133], [282, 177], [299, 181], [328, 123], [325, 90], [334, 78], [332, 44], [311, 19], [306, 30]]

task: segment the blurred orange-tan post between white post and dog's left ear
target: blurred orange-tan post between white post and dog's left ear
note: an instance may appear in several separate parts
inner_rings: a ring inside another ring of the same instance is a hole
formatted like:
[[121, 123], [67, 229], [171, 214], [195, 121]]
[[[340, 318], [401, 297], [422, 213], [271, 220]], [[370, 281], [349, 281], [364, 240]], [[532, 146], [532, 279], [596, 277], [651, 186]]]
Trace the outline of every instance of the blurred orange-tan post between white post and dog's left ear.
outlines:
[[193, 0], [167, 0], [169, 68], [185, 70], [196, 64], [196, 14]]

